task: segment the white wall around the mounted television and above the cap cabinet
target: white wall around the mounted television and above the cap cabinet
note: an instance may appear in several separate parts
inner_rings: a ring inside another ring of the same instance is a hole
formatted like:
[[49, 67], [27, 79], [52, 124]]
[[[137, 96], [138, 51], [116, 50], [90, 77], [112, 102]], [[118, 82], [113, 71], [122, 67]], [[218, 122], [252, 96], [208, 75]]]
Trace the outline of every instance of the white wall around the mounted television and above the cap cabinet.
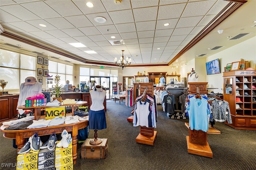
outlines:
[[206, 62], [212, 61], [214, 59], [220, 59], [220, 74], [207, 75], [206, 81], [208, 82], [208, 87], [215, 87], [214, 93], [223, 93], [223, 71], [224, 67], [228, 63], [235, 61], [240, 61], [241, 58], [250, 62], [250, 67], [256, 69], [256, 36], [246, 40], [242, 43], [234, 45], [224, 51], [220, 51], [215, 55], [206, 58]]

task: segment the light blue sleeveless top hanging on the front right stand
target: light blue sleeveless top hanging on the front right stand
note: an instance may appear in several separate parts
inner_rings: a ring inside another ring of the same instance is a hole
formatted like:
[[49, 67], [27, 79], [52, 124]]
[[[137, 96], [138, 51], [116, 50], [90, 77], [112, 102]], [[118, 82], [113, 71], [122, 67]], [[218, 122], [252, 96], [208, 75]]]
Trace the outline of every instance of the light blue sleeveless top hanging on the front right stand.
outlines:
[[196, 97], [190, 98], [187, 111], [190, 129], [207, 132], [211, 114], [207, 100], [204, 98], [196, 99]]

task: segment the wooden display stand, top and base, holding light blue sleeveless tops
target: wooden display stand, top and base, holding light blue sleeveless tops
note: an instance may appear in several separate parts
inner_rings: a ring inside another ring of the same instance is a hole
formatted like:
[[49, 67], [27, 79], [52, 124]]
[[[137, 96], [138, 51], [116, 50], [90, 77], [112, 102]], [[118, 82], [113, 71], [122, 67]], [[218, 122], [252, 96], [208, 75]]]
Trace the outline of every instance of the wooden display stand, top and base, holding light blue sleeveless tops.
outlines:
[[[189, 92], [199, 94], [207, 93], [207, 82], [188, 83]], [[192, 89], [192, 91], [190, 91]], [[187, 136], [188, 153], [212, 158], [212, 150], [207, 142], [207, 132], [202, 130], [191, 130], [189, 128], [189, 136]]]

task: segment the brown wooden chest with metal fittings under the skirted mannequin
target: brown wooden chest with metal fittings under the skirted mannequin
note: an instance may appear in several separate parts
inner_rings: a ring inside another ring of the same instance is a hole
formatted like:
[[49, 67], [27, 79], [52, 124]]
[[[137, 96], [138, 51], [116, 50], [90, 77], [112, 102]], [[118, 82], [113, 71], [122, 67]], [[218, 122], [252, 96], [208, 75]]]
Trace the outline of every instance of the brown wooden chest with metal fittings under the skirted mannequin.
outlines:
[[106, 158], [108, 151], [108, 139], [103, 138], [100, 144], [90, 144], [91, 138], [87, 138], [82, 144], [81, 158], [82, 159], [101, 159]]

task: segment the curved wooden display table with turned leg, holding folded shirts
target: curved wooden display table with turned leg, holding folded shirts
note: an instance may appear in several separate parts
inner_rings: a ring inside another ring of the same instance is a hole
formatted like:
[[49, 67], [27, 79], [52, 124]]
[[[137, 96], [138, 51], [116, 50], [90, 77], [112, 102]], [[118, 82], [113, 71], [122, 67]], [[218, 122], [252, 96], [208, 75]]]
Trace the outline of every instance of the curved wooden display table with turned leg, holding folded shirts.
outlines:
[[[36, 109], [35, 109], [36, 110]], [[8, 126], [2, 125], [0, 130], [4, 132], [5, 138], [16, 139], [16, 145], [18, 146], [18, 151], [24, 146], [25, 139], [29, 138], [35, 133], [38, 133], [38, 136], [43, 136], [52, 133], [62, 133], [64, 129], [68, 132], [72, 132], [72, 150], [73, 150], [73, 162], [76, 164], [77, 158], [77, 135], [78, 129], [82, 129], [88, 126], [88, 121], [80, 121], [79, 123], [73, 123], [68, 125], [57, 125], [52, 127], [43, 127], [43, 128], [32, 128], [32, 129], [24, 129], [24, 130], [4, 130], [4, 128]], [[18, 152], [17, 151], [17, 152]]]

